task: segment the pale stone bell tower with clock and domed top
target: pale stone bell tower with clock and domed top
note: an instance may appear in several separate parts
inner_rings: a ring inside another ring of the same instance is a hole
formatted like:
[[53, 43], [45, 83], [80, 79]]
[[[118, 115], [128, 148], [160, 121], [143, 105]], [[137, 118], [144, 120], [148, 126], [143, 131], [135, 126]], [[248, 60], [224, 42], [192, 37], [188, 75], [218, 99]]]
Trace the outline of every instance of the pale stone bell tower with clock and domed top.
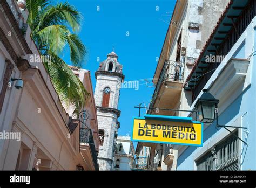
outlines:
[[117, 130], [120, 127], [118, 101], [120, 86], [124, 81], [123, 66], [118, 62], [116, 53], [107, 54], [95, 72], [95, 104], [99, 128], [99, 170], [112, 170]]

